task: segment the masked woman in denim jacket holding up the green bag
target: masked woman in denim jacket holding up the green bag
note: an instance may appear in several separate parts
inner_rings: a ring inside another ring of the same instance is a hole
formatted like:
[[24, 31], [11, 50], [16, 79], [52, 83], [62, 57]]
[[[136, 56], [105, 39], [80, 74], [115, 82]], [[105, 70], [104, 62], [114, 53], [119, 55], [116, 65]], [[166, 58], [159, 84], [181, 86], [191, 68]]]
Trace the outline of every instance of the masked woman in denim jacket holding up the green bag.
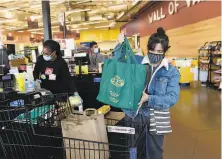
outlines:
[[[148, 40], [147, 48], [148, 55], [144, 57], [142, 64], [148, 65], [147, 85], [143, 92], [142, 98], [138, 104], [137, 111], [124, 110], [126, 117], [125, 120], [139, 122], [149, 126], [149, 133], [147, 139], [148, 145], [148, 159], [163, 159], [163, 143], [164, 135], [171, 132], [169, 128], [170, 120], [165, 122], [164, 118], [156, 118], [156, 130], [152, 129], [151, 110], [154, 110], [157, 115], [169, 115], [169, 108], [176, 104], [179, 99], [179, 78], [178, 70], [169, 64], [165, 58], [165, 53], [169, 49], [169, 39], [165, 34], [163, 28], [158, 28], [157, 33], [151, 35]], [[155, 114], [156, 115], [156, 114]], [[166, 117], [166, 116], [165, 116]], [[159, 124], [167, 124], [159, 126]], [[168, 125], [169, 124], [169, 125]], [[161, 132], [157, 132], [157, 128], [163, 128]], [[153, 131], [153, 132], [152, 132]]]

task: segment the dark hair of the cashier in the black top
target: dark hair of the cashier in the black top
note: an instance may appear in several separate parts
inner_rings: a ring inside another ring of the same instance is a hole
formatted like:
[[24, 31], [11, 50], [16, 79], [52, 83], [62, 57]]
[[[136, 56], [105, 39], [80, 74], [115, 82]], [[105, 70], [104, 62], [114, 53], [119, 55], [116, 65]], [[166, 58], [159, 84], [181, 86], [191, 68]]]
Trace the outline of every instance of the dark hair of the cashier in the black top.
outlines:
[[43, 47], [48, 48], [50, 52], [56, 51], [57, 56], [62, 56], [60, 44], [54, 40], [46, 40]]

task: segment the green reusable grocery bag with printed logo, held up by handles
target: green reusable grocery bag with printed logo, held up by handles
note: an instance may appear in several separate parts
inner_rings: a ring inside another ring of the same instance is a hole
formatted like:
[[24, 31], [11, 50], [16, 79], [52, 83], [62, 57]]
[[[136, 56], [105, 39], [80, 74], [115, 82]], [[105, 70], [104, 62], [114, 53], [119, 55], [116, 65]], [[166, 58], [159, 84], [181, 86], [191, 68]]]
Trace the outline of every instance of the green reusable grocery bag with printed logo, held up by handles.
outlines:
[[127, 38], [103, 66], [97, 100], [121, 109], [138, 109], [146, 81], [146, 66], [138, 64]]

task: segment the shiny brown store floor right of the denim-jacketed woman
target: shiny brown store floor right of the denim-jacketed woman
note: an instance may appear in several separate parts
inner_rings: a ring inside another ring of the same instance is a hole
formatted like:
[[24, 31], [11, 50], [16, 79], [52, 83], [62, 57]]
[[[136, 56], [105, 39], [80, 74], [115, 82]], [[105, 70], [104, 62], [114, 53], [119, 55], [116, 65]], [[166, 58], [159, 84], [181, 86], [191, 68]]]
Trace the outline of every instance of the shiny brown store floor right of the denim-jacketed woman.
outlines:
[[220, 159], [220, 91], [181, 89], [171, 109], [173, 133], [167, 135], [164, 159]]

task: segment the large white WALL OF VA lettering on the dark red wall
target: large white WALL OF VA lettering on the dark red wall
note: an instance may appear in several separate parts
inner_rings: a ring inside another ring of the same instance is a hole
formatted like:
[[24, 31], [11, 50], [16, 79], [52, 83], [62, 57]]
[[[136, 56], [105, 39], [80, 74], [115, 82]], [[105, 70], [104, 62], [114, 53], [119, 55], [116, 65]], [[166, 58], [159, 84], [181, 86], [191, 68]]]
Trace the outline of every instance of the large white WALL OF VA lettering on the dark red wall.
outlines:
[[[186, 6], [191, 7], [202, 1], [205, 0], [186, 0]], [[179, 0], [170, 1], [168, 4], [168, 14], [173, 15], [177, 13], [181, 2], [183, 1]], [[163, 7], [158, 8], [157, 10], [153, 11], [151, 14], [148, 15], [148, 20], [150, 24], [162, 20], [164, 18], [166, 18], [166, 13], [164, 12]]]

